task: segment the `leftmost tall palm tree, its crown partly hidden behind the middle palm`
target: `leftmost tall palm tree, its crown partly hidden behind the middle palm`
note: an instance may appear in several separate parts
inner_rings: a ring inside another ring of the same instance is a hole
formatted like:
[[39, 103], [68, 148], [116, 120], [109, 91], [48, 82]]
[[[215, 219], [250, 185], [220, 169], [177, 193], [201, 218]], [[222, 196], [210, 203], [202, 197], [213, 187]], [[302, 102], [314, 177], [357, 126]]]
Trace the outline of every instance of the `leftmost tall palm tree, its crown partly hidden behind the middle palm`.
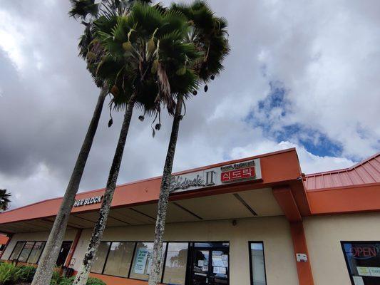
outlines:
[[[96, 76], [96, 63], [101, 60], [101, 49], [96, 45], [91, 45], [93, 40], [93, 20], [97, 19], [101, 14], [115, 14], [120, 9], [123, 1], [103, 1], [101, 4], [96, 4], [94, 0], [71, 0], [72, 9], [69, 12], [70, 16], [75, 19], [81, 19], [81, 23], [85, 26], [83, 36], [78, 44], [79, 55], [87, 59], [87, 68], [90, 71], [96, 86], [101, 88], [98, 95], [93, 117], [91, 118], [90, 125], [83, 140], [81, 151], [78, 154], [76, 165], [73, 168], [71, 178], [68, 182], [65, 195], [58, 210], [56, 219], [54, 220], [53, 227], [43, 249], [43, 254], [38, 263], [38, 268], [34, 276], [33, 283], [36, 284], [49, 284], [53, 274], [53, 267], [56, 264], [59, 250], [63, 242], [63, 236], [66, 232], [68, 218], [75, 202], [76, 192], [81, 182], [84, 167], [88, 159], [89, 152], [93, 143], [93, 138], [98, 128], [99, 119], [103, 109], [103, 103], [106, 95], [109, 93], [106, 81]], [[116, 5], [118, 4], [118, 5]]]

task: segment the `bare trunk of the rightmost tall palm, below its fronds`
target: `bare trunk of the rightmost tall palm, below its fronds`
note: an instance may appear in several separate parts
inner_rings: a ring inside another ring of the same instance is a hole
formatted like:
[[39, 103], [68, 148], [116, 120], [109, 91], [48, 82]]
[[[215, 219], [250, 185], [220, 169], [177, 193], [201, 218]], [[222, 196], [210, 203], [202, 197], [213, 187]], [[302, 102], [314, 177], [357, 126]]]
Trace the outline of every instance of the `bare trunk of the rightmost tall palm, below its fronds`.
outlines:
[[177, 106], [173, 119], [172, 133], [168, 152], [166, 153], [165, 166], [163, 168], [163, 178], [161, 180], [160, 197], [158, 199], [158, 214], [155, 222], [155, 242], [153, 245], [152, 262], [150, 265], [150, 276], [148, 285], [157, 285], [160, 280], [161, 257], [163, 253], [163, 234], [165, 232], [166, 211], [169, 202], [170, 180], [172, 177], [173, 160], [175, 146], [177, 145], [178, 131], [180, 130], [180, 120], [182, 119], [181, 111], [183, 105], [183, 95], [178, 95]]

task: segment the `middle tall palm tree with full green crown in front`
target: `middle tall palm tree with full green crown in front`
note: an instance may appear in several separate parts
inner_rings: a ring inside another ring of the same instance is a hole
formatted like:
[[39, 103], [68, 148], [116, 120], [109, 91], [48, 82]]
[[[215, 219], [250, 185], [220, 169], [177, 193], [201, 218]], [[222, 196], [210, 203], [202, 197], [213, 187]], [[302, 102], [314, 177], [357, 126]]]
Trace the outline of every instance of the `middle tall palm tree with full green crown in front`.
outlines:
[[[159, 130], [161, 107], [173, 115], [177, 110], [175, 94], [188, 94], [197, 88], [197, 75], [188, 67], [202, 55], [185, 40], [190, 26], [186, 17], [160, 5], [137, 3], [124, 16], [99, 17], [94, 26], [93, 43], [103, 48], [105, 54], [98, 63], [96, 76], [109, 84], [113, 94], [111, 106], [125, 109], [125, 114], [100, 214], [73, 282], [81, 285], [86, 284], [106, 227], [134, 106], [142, 108], [144, 115], [155, 115], [155, 130]], [[141, 115], [140, 120], [143, 118]]]

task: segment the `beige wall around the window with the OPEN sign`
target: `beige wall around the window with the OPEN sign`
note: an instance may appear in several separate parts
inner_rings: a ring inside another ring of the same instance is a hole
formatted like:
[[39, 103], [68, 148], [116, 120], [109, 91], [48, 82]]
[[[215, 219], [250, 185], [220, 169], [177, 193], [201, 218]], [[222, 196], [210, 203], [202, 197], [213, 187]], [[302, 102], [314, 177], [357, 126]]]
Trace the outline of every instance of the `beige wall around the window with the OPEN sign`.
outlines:
[[348, 285], [341, 241], [379, 241], [380, 213], [307, 217], [304, 231], [315, 285]]

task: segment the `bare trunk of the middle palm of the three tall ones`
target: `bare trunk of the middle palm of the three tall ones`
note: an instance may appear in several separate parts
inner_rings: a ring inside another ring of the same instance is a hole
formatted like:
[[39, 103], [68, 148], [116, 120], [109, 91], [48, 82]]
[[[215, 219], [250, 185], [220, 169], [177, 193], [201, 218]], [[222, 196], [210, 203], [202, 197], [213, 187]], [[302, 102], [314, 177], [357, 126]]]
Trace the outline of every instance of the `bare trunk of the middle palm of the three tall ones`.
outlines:
[[113, 156], [113, 162], [111, 165], [111, 170], [108, 175], [106, 192], [104, 192], [104, 197], [101, 204], [101, 209], [99, 211], [99, 217], [96, 221], [95, 227], [93, 228], [93, 234], [91, 240], [87, 247], [87, 252], [83, 257], [81, 268], [76, 275], [76, 279], [73, 285], [85, 285], [88, 279], [88, 274], [90, 273], [91, 266], [93, 264], [93, 259], [98, 251], [99, 244], [101, 244], [101, 239], [103, 237], [104, 229], [106, 228], [108, 213], [110, 212], [111, 202], [113, 198], [113, 193], [115, 192], [116, 182], [118, 180], [119, 170], [121, 160], [123, 159], [123, 152], [125, 146], [125, 140], [128, 135], [129, 123], [132, 118], [133, 106], [135, 105], [136, 96], [132, 95], [128, 102], [127, 108], [125, 108], [123, 125], [121, 126], [120, 136], [118, 140], [118, 145], [116, 146], [115, 155]]

